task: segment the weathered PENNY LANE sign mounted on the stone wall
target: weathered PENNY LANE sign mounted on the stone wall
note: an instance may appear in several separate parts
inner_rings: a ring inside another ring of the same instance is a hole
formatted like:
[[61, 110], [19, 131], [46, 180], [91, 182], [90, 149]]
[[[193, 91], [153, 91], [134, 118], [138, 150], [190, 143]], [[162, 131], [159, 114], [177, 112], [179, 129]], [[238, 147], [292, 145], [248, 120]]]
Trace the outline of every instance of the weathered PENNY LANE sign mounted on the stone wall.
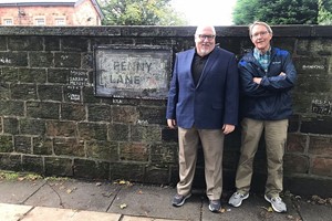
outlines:
[[165, 99], [172, 49], [152, 45], [94, 48], [94, 93], [100, 97]]

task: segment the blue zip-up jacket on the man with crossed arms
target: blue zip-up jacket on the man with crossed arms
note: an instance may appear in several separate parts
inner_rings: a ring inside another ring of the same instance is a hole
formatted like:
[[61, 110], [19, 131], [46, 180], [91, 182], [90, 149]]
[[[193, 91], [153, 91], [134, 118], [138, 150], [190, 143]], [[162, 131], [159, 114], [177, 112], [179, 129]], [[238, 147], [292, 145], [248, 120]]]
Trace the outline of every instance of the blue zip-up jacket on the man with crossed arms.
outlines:
[[[292, 115], [290, 90], [294, 86], [297, 71], [289, 52], [272, 48], [271, 62], [267, 72], [255, 59], [253, 52], [245, 54], [238, 67], [241, 117], [278, 120], [287, 119]], [[286, 76], [280, 76], [281, 72], [286, 73]], [[261, 83], [255, 83], [253, 77], [262, 77]]]

